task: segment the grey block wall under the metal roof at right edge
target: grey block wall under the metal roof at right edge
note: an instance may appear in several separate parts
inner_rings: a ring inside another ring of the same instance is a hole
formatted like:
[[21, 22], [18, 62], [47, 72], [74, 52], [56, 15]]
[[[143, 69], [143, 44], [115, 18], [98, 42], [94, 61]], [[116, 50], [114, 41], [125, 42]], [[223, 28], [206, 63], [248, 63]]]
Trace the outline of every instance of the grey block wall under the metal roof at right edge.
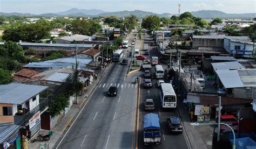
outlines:
[[255, 99], [256, 87], [233, 88], [232, 95], [234, 98]]

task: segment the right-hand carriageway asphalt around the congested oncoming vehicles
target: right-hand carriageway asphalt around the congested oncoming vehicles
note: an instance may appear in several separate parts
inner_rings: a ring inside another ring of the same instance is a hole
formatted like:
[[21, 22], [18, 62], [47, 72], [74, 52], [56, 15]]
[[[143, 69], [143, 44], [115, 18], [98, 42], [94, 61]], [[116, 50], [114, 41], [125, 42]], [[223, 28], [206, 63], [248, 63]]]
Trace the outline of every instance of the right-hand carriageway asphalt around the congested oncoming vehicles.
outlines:
[[[150, 50], [150, 55], [148, 58], [151, 58], [151, 56], [157, 56], [158, 53], [156, 50], [153, 50], [150, 44], [151, 38], [149, 35], [145, 34], [143, 36], [144, 40], [144, 48]], [[163, 66], [166, 67], [166, 66]], [[153, 68], [152, 68], [153, 69]], [[143, 77], [143, 73], [140, 73], [140, 76]], [[142, 78], [144, 80], [144, 78]], [[170, 116], [178, 116], [177, 109], [174, 110], [163, 110], [161, 108], [160, 104], [160, 95], [159, 91], [160, 89], [157, 88], [157, 79], [152, 80], [153, 81], [153, 87], [150, 89], [145, 89], [143, 87], [143, 83], [141, 84], [140, 88], [140, 118], [139, 118], [139, 139], [138, 139], [138, 145], [139, 148], [187, 148], [186, 140], [184, 138], [184, 134], [171, 134], [169, 133], [167, 124], [166, 124], [166, 118]], [[143, 82], [143, 81], [142, 81]], [[150, 91], [150, 96], [148, 94], [148, 90]], [[143, 115], [145, 115], [146, 112], [144, 111], [144, 100], [146, 98], [152, 98], [154, 100], [154, 103], [156, 105], [156, 109], [152, 111], [153, 113], [157, 113], [160, 118], [160, 127], [161, 127], [161, 145], [159, 146], [144, 146], [143, 143]]]

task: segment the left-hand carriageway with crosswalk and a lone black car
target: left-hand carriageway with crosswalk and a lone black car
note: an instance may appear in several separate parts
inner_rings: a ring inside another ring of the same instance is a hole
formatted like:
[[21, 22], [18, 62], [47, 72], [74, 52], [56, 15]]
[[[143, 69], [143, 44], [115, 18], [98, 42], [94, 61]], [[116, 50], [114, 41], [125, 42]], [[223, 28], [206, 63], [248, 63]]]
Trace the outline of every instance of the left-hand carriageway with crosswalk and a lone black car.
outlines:
[[[132, 147], [138, 86], [125, 78], [127, 69], [129, 65], [112, 63], [58, 148]], [[116, 97], [107, 96], [111, 84], [118, 87]]]

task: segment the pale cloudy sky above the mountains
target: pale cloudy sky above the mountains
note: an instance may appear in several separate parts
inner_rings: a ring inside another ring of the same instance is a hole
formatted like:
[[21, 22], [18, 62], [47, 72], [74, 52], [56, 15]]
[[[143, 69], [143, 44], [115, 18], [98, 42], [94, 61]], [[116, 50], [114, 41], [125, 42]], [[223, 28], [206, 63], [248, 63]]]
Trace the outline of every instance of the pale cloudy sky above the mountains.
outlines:
[[143, 10], [154, 13], [178, 13], [198, 10], [219, 10], [225, 13], [255, 13], [255, 0], [0, 0], [0, 12], [56, 13], [78, 9], [103, 11]]

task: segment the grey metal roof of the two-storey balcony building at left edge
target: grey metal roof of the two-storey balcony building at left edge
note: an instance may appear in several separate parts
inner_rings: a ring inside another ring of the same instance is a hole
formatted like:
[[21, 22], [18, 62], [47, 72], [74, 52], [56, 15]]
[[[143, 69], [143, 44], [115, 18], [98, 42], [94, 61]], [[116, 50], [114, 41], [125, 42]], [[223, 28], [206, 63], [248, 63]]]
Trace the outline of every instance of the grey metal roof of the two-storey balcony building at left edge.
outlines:
[[10, 83], [0, 86], [0, 103], [22, 104], [48, 87]]

